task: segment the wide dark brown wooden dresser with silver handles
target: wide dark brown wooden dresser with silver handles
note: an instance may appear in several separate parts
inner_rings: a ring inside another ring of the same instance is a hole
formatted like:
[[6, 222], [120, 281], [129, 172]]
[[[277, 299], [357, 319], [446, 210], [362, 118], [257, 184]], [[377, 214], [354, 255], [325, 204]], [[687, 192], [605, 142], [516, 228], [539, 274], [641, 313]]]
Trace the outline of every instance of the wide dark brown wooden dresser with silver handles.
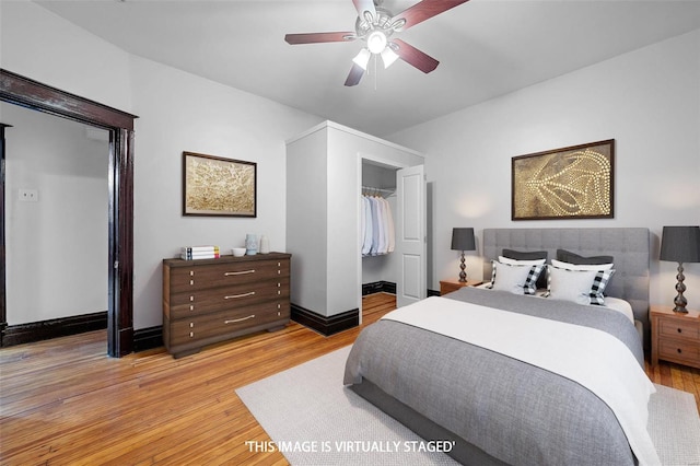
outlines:
[[290, 261], [283, 253], [163, 260], [163, 342], [175, 358], [290, 319]]

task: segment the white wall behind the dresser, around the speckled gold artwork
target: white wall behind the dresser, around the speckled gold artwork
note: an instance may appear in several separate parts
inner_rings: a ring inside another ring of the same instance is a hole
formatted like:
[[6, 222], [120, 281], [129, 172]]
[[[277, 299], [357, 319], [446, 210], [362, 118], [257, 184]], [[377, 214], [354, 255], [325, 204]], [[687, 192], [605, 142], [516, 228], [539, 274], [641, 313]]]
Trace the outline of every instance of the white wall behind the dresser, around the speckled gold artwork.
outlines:
[[[164, 257], [180, 246], [217, 244], [230, 253], [246, 233], [285, 251], [284, 140], [320, 118], [132, 57], [136, 124], [135, 328], [162, 324]], [[257, 218], [182, 215], [183, 151], [257, 163]], [[293, 258], [292, 258], [293, 260]]]

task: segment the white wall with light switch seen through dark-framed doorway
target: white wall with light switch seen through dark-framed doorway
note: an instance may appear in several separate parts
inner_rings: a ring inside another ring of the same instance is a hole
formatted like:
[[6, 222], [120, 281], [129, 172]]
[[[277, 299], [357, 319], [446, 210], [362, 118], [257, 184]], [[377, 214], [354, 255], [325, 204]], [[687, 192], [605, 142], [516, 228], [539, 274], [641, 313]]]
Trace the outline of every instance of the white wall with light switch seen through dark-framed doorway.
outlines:
[[[0, 103], [5, 130], [7, 317], [107, 311], [107, 131]], [[36, 191], [23, 201], [20, 189]]]

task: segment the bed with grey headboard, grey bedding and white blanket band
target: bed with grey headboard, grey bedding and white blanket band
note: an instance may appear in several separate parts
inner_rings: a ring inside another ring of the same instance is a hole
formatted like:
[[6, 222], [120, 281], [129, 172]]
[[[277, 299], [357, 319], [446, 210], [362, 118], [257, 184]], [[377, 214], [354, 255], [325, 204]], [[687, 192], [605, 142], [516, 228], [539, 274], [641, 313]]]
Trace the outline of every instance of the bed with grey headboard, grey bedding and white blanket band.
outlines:
[[646, 229], [485, 230], [485, 277], [504, 249], [612, 256], [606, 293], [631, 315], [464, 288], [363, 329], [343, 383], [423, 439], [447, 441], [463, 464], [654, 464], [649, 242]]

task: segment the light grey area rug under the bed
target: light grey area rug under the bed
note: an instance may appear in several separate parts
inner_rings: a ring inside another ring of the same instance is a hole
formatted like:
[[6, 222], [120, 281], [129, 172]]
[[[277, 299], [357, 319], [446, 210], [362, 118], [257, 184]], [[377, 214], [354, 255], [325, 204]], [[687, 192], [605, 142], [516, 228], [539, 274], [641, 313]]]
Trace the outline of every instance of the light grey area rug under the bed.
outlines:
[[[448, 444], [422, 440], [342, 386], [350, 347], [268, 378], [236, 394], [292, 465], [456, 465]], [[700, 465], [700, 417], [695, 397], [655, 385], [649, 433], [663, 465]]]

